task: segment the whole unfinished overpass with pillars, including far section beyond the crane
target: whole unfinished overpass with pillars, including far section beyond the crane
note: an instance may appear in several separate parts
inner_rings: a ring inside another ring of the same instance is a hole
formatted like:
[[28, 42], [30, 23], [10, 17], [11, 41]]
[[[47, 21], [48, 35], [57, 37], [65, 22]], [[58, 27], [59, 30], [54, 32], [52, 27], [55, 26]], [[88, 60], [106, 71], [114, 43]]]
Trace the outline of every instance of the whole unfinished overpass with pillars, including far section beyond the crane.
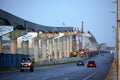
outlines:
[[76, 37], [81, 35], [83, 47], [97, 50], [98, 43], [90, 32], [81, 34], [80, 30], [73, 30], [73, 27], [36, 24], [1, 9], [0, 14], [0, 53], [4, 52], [2, 36], [10, 38], [10, 54], [29, 54], [36, 61], [69, 58], [70, 53], [77, 50]]

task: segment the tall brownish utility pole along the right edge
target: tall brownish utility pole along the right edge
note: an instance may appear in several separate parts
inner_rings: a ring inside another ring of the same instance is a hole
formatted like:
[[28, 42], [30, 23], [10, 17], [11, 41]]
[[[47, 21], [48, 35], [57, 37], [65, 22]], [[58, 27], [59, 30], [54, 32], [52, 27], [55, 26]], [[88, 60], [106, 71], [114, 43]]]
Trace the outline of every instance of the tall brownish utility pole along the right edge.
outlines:
[[120, 80], [120, 0], [117, 0], [117, 80]]

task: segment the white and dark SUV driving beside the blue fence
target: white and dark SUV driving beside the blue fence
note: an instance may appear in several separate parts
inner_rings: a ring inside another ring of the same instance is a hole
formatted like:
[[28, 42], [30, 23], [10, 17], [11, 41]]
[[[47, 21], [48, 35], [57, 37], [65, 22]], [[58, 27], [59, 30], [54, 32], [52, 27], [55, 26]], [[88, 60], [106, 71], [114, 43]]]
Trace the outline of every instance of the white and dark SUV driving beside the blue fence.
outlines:
[[23, 59], [21, 62], [21, 66], [20, 66], [20, 71], [30, 71], [33, 72], [34, 71], [34, 61], [31, 60], [30, 58], [27, 59]]

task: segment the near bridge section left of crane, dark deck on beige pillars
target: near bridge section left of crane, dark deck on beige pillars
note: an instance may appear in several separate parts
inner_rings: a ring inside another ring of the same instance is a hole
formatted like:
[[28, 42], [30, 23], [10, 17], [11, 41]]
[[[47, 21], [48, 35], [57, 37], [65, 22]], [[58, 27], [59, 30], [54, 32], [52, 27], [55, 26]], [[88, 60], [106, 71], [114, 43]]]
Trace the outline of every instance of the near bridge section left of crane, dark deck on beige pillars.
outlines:
[[[47, 49], [49, 51], [50, 58], [69, 58], [69, 54], [72, 51], [72, 35], [76, 34], [73, 27], [51, 27], [45, 25], [39, 25], [24, 19], [21, 19], [15, 15], [12, 15], [6, 11], [0, 9], [0, 26], [1, 31], [5, 26], [12, 26], [13, 31], [2, 34], [2, 36], [8, 36], [10, 38], [10, 53], [18, 54], [17, 52], [17, 39], [26, 35], [29, 32], [37, 33], [34, 39], [34, 58], [36, 62], [39, 60], [39, 40], [42, 44], [42, 60], [47, 60]], [[0, 36], [0, 53], [2, 51], [2, 36]], [[49, 44], [49, 45], [48, 45]], [[23, 54], [29, 54], [29, 40], [22, 41]]]

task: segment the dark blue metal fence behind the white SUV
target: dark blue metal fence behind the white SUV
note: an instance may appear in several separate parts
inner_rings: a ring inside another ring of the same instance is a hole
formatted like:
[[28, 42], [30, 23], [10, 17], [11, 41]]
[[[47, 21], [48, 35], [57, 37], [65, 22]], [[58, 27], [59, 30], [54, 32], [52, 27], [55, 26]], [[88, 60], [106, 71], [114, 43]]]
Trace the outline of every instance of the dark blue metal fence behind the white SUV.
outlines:
[[0, 54], [0, 68], [20, 67], [22, 58], [29, 57], [23, 54]]

